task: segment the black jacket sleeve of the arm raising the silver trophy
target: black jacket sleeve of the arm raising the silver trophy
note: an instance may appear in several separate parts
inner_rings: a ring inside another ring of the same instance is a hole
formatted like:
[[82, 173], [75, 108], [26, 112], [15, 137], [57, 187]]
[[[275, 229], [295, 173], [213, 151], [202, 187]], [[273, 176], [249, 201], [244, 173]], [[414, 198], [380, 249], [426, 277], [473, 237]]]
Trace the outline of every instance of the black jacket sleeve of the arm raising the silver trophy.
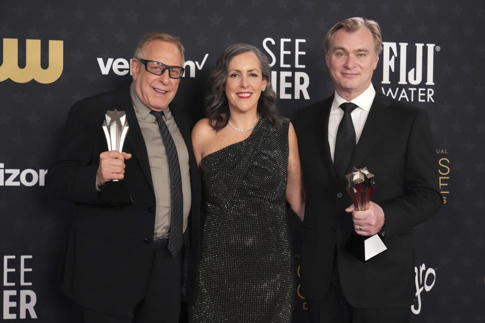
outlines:
[[89, 110], [83, 101], [78, 101], [69, 111], [56, 162], [46, 179], [46, 188], [55, 199], [98, 202], [95, 181], [101, 152], [93, 153], [94, 116]]

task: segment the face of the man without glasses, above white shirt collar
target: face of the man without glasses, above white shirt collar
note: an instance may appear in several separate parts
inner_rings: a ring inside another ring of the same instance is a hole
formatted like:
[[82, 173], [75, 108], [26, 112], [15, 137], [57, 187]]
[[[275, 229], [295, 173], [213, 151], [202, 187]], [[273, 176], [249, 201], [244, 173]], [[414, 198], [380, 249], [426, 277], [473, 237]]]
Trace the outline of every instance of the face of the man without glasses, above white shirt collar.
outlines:
[[364, 26], [352, 33], [338, 29], [325, 61], [338, 95], [348, 101], [354, 99], [369, 87], [379, 61], [372, 33]]

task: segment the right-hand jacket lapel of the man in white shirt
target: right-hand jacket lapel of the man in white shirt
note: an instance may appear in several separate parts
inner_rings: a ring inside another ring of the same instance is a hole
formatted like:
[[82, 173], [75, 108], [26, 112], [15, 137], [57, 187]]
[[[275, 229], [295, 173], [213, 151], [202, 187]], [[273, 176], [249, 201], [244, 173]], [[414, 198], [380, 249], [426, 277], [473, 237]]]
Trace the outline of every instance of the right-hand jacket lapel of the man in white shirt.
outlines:
[[[375, 94], [374, 101], [365, 121], [364, 129], [360, 136], [359, 142], [355, 147], [354, 154], [350, 160], [349, 168], [350, 173], [353, 166], [358, 166], [362, 163], [362, 160], [369, 154], [369, 151], [374, 146], [375, 141], [382, 133], [385, 125], [391, 117], [394, 115], [394, 111], [389, 109], [393, 102], [386, 96], [379, 93]], [[365, 165], [363, 165], [365, 167]], [[372, 171], [372, 170], [371, 170]]]

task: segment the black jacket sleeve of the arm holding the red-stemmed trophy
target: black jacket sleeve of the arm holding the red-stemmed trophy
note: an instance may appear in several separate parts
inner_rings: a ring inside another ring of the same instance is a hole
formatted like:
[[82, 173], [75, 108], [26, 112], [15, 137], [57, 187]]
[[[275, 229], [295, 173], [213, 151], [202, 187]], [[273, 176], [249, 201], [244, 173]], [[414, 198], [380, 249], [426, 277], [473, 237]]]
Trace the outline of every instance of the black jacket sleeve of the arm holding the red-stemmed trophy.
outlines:
[[424, 110], [419, 110], [406, 148], [404, 194], [380, 205], [386, 219], [386, 236], [411, 231], [412, 227], [431, 218], [443, 205], [436, 168], [429, 118]]

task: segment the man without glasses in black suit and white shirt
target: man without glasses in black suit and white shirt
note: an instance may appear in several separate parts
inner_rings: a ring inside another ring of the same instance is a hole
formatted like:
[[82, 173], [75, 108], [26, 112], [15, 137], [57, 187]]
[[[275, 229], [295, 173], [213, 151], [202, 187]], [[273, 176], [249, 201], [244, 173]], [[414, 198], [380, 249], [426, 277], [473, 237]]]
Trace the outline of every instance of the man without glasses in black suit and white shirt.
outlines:
[[[302, 293], [313, 322], [409, 322], [412, 228], [438, 211], [436, 160], [425, 111], [376, 93], [382, 38], [372, 20], [349, 18], [325, 37], [334, 95], [297, 112], [306, 185]], [[351, 102], [351, 103], [346, 103]], [[369, 209], [357, 211], [345, 175], [375, 175]], [[345, 250], [355, 231], [384, 235], [387, 250], [363, 262]]]

